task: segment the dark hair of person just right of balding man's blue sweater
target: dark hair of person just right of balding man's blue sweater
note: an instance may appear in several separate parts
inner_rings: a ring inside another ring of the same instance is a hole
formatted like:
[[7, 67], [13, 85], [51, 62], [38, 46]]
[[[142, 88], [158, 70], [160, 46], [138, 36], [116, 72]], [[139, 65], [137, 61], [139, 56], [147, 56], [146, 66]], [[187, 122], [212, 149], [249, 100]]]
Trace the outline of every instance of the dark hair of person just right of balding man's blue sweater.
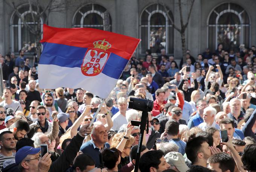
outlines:
[[104, 151], [102, 151], [102, 159], [104, 161], [105, 167], [107, 167], [108, 169], [113, 169], [119, 159], [118, 149], [105, 149]]

